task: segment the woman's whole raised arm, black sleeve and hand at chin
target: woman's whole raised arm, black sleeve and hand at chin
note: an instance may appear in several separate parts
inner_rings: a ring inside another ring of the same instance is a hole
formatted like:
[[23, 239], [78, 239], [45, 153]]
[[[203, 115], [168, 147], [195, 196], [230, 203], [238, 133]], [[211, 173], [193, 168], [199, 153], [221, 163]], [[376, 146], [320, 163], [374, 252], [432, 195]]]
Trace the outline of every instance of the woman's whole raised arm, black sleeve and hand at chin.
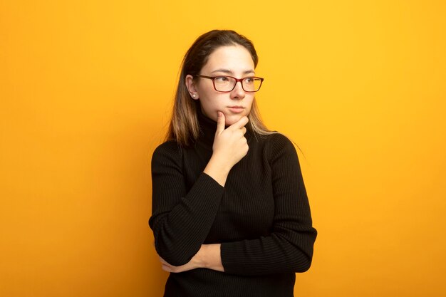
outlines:
[[175, 266], [187, 264], [199, 251], [211, 228], [227, 174], [247, 154], [247, 117], [224, 128], [219, 113], [212, 157], [187, 192], [182, 157], [174, 142], [166, 142], [152, 157], [152, 217], [155, 249]]

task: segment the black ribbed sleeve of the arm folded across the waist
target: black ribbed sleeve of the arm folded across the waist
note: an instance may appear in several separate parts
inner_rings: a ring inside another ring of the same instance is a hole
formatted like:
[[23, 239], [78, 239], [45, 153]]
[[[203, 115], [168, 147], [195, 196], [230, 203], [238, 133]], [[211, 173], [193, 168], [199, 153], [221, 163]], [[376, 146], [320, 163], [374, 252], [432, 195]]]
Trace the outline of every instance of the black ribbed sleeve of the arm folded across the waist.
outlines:
[[269, 236], [222, 243], [227, 273], [253, 276], [304, 272], [311, 266], [316, 229], [294, 145], [284, 135], [271, 137], [270, 165], [274, 221]]

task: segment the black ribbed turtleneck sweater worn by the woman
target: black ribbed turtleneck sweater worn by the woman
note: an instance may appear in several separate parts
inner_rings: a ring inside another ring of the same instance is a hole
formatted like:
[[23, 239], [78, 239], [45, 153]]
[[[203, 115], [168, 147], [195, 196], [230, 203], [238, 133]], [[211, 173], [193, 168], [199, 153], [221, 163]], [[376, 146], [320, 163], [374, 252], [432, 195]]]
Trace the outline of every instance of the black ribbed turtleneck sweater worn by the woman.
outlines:
[[279, 133], [248, 131], [248, 154], [224, 187], [203, 172], [217, 123], [199, 114], [190, 147], [165, 142], [152, 156], [152, 217], [157, 253], [180, 266], [202, 244], [221, 245], [224, 272], [170, 273], [165, 296], [294, 296], [295, 272], [311, 265], [316, 229], [294, 145]]

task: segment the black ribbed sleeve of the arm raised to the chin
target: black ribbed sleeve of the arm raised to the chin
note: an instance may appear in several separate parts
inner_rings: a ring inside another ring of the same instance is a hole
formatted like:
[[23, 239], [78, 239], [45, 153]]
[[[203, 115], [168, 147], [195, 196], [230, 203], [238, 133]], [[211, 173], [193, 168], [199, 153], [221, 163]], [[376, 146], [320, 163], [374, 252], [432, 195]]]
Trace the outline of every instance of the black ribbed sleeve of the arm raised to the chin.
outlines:
[[155, 249], [174, 266], [197, 254], [214, 222], [224, 188], [201, 173], [187, 191], [182, 157], [175, 142], [165, 142], [152, 156], [152, 217]]

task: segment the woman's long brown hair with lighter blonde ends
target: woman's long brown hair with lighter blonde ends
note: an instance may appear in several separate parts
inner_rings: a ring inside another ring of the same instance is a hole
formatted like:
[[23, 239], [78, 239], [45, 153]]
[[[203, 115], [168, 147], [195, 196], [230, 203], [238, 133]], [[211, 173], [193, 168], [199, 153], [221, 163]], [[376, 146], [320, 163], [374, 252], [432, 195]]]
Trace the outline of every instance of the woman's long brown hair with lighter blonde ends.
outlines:
[[[240, 45], [246, 48], [254, 61], [254, 68], [259, 63], [256, 49], [252, 42], [232, 30], [213, 30], [199, 36], [192, 44], [182, 61], [180, 79], [175, 93], [172, 120], [167, 130], [165, 140], [175, 140], [180, 146], [187, 147], [199, 137], [197, 112], [199, 104], [192, 100], [185, 84], [186, 75], [195, 77], [207, 63], [209, 55], [221, 46]], [[194, 78], [195, 79], [195, 78]], [[266, 128], [260, 118], [259, 108], [254, 98], [248, 115], [248, 127], [254, 135], [268, 135], [274, 133]]]

